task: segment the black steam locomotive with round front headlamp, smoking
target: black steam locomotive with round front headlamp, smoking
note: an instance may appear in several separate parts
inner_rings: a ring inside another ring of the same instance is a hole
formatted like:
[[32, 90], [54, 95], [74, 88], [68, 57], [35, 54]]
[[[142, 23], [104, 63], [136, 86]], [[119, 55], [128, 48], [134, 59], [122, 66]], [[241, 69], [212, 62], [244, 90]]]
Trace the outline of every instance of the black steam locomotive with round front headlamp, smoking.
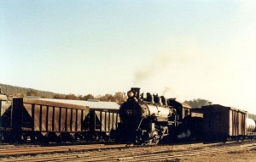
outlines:
[[187, 138], [189, 131], [189, 105], [174, 98], [140, 94], [140, 88], [131, 88], [128, 99], [120, 106], [120, 123], [116, 130], [117, 142], [144, 143]]

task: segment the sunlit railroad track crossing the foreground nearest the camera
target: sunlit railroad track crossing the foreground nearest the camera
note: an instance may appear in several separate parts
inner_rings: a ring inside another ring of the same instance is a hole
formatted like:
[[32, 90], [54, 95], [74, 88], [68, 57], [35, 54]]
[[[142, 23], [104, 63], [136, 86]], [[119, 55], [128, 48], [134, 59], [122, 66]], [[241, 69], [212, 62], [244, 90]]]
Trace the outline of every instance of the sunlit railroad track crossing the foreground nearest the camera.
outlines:
[[[173, 149], [173, 146], [151, 146], [151, 147], [132, 147], [132, 148], [112, 148], [104, 149], [102, 151], [87, 151], [84, 153], [70, 153], [66, 155], [51, 154], [38, 157], [30, 157], [27, 159], [10, 159], [9, 161], [164, 161], [170, 159], [189, 158], [190, 156], [200, 154], [214, 154], [214, 153], [229, 153], [241, 151], [244, 149], [256, 149], [256, 143], [241, 144], [235, 146], [224, 145], [216, 147], [214, 144], [210, 145], [193, 145], [190, 149]], [[97, 148], [101, 149], [101, 148]]]

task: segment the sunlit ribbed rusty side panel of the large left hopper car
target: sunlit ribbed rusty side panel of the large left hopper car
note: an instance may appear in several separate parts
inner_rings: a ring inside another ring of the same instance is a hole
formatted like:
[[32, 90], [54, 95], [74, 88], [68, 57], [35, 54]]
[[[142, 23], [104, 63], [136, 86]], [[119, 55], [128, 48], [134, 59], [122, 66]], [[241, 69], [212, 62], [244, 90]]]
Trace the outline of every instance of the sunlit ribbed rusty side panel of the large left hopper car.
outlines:
[[88, 110], [85, 109], [55, 107], [38, 103], [24, 103], [24, 108], [31, 117], [32, 109], [34, 111], [34, 131], [82, 131], [82, 121], [88, 114]]

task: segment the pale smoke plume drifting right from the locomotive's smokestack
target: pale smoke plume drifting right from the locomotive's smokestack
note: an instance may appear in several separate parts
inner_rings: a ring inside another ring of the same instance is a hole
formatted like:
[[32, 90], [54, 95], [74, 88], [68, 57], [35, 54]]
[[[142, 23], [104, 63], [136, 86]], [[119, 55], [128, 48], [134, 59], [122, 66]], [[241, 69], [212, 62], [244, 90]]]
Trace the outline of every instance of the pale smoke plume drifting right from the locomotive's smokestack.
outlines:
[[200, 59], [196, 58], [202, 58], [202, 53], [199, 51], [195, 38], [181, 36], [176, 37], [176, 39], [167, 40], [143, 70], [135, 71], [134, 84], [137, 85], [154, 78], [154, 75], [159, 71], [170, 70], [169, 66], [178, 64], [189, 67], [189, 64], [198, 64], [197, 61], [201, 62]]

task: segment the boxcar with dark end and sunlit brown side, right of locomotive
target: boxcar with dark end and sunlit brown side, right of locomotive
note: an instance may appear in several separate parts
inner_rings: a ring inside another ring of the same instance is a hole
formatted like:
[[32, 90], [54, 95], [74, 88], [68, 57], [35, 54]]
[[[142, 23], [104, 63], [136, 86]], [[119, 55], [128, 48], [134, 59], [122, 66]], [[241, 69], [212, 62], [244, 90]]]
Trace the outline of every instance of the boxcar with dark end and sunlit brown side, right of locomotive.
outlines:
[[246, 136], [247, 111], [213, 104], [203, 106], [205, 140], [236, 139]]

